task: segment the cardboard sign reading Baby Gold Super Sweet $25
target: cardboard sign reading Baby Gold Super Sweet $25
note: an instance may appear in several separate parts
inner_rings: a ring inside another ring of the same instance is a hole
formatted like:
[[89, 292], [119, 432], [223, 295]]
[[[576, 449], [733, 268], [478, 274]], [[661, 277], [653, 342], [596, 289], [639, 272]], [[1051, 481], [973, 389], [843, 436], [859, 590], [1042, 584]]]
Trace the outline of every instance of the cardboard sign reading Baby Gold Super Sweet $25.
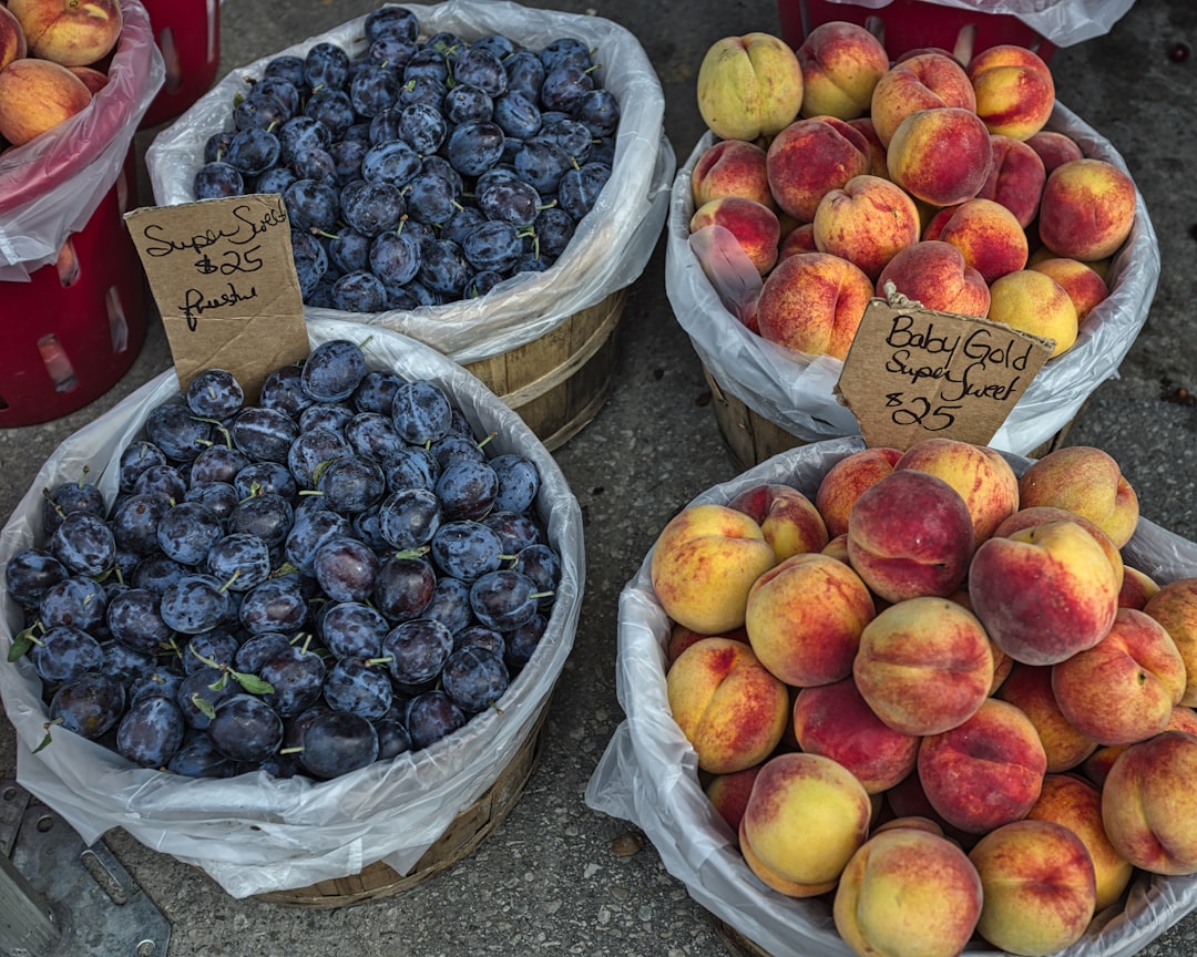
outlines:
[[1051, 340], [989, 319], [874, 299], [836, 386], [868, 445], [988, 445], [1051, 356]]

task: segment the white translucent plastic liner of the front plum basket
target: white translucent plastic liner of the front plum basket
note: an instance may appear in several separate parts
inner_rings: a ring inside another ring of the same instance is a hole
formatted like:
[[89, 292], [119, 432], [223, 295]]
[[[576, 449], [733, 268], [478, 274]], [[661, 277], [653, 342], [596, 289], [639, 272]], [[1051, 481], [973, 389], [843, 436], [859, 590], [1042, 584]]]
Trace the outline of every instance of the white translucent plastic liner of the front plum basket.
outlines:
[[[329, 339], [360, 341], [357, 323], [309, 322], [312, 346]], [[376, 762], [340, 778], [277, 780], [262, 772], [227, 780], [189, 779], [139, 768], [115, 751], [63, 731], [32, 754], [45, 736], [47, 709], [31, 665], [0, 662], [0, 695], [17, 730], [17, 780], [62, 815], [91, 843], [123, 828], [141, 843], [206, 871], [233, 897], [308, 886], [356, 874], [384, 860], [407, 873], [462, 810], [496, 781], [548, 707], [573, 644], [585, 577], [582, 514], [553, 457], [514, 412], [476, 378], [419, 342], [370, 330], [371, 368], [429, 379], [452, 396], [478, 434], [496, 432], [496, 453], [518, 452], [540, 471], [536, 510], [561, 556], [561, 581], [548, 628], [530, 662], [497, 707], [456, 733], [417, 752]], [[109, 504], [121, 450], [156, 406], [178, 397], [168, 370], [109, 413], [65, 440], [0, 531], [0, 567], [40, 541], [42, 489], [77, 478], [85, 464]], [[0, 597], [0, 658], [22, 627], [20, 609]]]

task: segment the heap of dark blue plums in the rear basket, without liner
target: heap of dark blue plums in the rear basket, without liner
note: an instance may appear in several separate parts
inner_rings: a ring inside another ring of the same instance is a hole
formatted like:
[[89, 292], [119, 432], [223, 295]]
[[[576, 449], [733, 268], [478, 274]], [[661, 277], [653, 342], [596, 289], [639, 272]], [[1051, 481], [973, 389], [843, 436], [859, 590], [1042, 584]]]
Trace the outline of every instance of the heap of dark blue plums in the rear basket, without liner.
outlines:
[[420, 39], [383, 6], [351, 57], [269, 60], [208, 138], [195, 197], [281, 194], [304, 301], [411, 310], [547, 269], [612, 175], [619, 103], [591, 51], [499, 33]]

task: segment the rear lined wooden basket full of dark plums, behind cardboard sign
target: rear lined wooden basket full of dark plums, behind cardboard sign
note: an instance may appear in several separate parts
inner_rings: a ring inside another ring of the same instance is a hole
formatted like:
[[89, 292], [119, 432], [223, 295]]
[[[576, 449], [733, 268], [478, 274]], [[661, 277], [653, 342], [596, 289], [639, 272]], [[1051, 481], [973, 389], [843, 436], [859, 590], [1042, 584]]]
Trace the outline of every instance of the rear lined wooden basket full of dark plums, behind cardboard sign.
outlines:
[[664, 225], [663, 112], [610, 20], [385, 5], [233, 71], [146, 164], [159, 205], [281, 194], [308, 315], [450, 355], [554, 447], [610, 386], [626, 291]]

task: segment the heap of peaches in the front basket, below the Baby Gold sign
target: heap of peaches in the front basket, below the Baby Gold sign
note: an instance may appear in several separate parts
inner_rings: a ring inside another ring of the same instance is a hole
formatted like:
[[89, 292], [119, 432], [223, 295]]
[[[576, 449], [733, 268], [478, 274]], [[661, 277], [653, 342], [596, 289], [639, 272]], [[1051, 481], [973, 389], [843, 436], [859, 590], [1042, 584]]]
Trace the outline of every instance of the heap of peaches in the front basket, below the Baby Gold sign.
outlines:
[[1197, 872], [1197, 578], [1125, 566], [1137, 522], [1099, 449], [952, 439], [679, 512], [668, 702], [751, 871], [862, 957], [1047, 955]]

